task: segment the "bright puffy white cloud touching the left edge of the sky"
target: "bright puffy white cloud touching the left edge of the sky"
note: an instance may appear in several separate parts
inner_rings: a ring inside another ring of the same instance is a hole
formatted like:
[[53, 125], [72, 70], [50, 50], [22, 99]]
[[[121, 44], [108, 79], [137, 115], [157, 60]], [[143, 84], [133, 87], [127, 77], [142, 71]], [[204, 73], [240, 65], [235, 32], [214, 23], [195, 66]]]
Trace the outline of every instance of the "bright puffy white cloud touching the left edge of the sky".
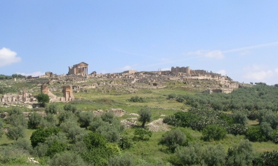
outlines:
[[13, 63], [17, 63], [21, 61], [20, 57], [16, 56], [17, 53], [8, 49], [2, 48], [0, 50], [0, 67], [5, 67]]

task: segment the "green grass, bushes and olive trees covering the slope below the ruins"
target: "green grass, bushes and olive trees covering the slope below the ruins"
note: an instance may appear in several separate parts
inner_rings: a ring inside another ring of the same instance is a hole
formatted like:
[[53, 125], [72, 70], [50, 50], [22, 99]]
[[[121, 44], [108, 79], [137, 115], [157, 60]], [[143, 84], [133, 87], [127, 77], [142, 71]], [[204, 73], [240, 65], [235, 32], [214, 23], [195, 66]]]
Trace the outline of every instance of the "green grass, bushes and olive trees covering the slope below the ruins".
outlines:
[[[74, 93], [75, 101], [25, 114], [20, 107], [3, 108], [8, 117], [0, 120], [0, 164], [32, 165], [31, 156], [40, 165], [277, 164], [277, 86], [257, 83], [208, 95], [180, 85], [138, 90], [135, 97], [89, 89]], [[116, 108], [124, 116], [106, 111]], [[150, 124], [159, 118], [166, 124]], [[121, 120], [135, 123], [125, 128]]]

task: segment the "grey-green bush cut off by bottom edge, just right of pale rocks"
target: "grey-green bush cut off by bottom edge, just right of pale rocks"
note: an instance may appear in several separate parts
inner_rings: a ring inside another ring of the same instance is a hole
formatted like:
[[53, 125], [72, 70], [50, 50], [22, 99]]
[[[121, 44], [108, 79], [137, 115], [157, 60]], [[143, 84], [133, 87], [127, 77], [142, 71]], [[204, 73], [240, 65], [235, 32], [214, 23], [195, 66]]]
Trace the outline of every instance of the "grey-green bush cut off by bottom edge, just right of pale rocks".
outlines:
[[48, 160], [49, 165], [53, 166], [86, 166], [86, 162], [77, 154], [72, 152], [57, 153]]

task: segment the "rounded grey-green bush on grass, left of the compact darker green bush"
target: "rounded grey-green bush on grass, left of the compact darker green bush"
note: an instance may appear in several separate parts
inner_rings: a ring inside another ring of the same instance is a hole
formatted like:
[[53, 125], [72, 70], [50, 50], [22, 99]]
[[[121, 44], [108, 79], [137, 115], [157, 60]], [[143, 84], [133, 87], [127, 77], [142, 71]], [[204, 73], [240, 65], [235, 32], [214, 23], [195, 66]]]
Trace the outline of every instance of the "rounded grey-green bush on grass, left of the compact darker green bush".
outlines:
[[176, 147], [185, 145], [185, 142], [185, 133], [179, 129], [174, 129], [162, 135], [160, 144], [166, 145], [173, 152]]

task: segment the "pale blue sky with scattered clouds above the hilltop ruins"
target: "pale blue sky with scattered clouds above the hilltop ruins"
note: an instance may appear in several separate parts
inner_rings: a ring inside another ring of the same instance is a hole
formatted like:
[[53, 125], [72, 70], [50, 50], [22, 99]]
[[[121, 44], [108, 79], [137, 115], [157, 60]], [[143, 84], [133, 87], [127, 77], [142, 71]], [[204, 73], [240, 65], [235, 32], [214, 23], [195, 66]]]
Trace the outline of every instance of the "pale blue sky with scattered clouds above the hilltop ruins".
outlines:
[[278, 83], [278, 1], [0, 0], [0, 74], [190, 67]]

